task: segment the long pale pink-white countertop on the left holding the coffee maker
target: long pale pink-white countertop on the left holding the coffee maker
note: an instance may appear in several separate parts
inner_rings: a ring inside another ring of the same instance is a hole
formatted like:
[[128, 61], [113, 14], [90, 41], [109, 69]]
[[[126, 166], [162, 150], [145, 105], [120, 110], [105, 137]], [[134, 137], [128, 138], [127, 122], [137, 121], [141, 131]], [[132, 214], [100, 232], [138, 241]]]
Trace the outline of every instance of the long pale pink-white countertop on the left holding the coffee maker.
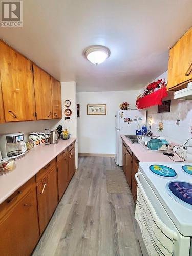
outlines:
[[32, 148], [23, 158], [16, 160], [16, 168], [12, 172], [0, 176], [0, 203], [11, 196], [75, 140], [76, 138], [59, 139], [58, 144], [55, 145], [41, 144]]

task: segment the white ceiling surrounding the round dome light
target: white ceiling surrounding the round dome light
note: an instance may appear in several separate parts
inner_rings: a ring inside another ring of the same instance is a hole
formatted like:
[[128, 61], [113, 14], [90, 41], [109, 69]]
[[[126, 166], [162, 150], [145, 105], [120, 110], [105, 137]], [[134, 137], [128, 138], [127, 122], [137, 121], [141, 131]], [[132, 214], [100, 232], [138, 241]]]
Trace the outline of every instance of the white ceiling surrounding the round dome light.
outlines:
[[[168, 49], [192, 25], [191, 0], [24, 0], [23, 28], [0, 37], [77, 91], [140, 89], [167, 70]], [[89, 45], [111, 56], [95, 66]]]

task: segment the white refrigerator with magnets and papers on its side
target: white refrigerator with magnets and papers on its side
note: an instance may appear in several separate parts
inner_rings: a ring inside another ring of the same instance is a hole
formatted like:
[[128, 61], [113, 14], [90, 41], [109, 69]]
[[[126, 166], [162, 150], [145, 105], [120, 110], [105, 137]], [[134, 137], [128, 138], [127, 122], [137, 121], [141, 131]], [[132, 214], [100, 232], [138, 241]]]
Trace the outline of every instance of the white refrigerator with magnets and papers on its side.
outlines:
[[146, 125], [146, 110], [118, 110], [115, 115], [116, 152], [115, 163], [122, 166], [122, 139], [120, 135], [136, 135], [140, 125]]

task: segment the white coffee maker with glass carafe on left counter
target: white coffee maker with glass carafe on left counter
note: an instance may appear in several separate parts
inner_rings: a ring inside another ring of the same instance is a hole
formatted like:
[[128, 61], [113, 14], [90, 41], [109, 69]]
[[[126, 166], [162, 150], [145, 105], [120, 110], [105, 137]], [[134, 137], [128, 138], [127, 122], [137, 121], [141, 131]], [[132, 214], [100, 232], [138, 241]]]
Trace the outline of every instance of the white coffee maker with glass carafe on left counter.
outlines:
[[27, 151], [23, 133], [12, 133], [2, 135], [0, 138], [0, 150], [2, 157], [11, 157], [17, 160], [25, 156]]

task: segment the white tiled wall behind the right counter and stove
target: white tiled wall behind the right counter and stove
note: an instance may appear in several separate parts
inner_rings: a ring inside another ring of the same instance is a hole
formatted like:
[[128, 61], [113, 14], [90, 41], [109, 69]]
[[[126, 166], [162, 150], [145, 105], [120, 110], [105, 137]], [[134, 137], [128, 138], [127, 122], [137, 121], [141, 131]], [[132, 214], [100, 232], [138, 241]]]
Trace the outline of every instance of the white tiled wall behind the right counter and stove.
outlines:
[[[161, 78], [167, 80], [167, 71], [154, 81]], [[168, 113], [157, 113], [158, 106], [147, 109], [147, 117], [152, 116], [152, 132], [178, 144], [184, 144], [188, 138], [192, 138], [192, 102], [174, 99], [173, 92], [168, 93], [168, 97], [164, 98], [163, 101], [168, 99], [172, 100]], [[176, 125], [177, 119], [180, 119], [179, 126]], [[162, 132], [157, 131], [159, 122], [164, 124]]]

